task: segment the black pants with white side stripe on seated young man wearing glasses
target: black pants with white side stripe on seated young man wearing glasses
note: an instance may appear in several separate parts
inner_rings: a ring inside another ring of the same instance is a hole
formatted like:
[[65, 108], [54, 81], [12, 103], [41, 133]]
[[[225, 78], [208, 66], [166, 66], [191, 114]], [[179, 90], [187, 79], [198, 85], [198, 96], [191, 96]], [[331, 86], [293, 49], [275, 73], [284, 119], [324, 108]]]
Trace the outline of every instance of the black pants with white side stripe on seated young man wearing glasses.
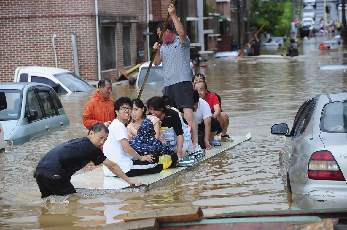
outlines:
[[152, 174], [160, 173], [163, 170], [163, 165], [159, 164], [159, 157], [153, 155], [153, 162], [148, 162], [147, 160], [133, 160], [133, 166], [130, 171], [126, 172], [125, 175], [128, 177], [139, 176], [142, 174]]

